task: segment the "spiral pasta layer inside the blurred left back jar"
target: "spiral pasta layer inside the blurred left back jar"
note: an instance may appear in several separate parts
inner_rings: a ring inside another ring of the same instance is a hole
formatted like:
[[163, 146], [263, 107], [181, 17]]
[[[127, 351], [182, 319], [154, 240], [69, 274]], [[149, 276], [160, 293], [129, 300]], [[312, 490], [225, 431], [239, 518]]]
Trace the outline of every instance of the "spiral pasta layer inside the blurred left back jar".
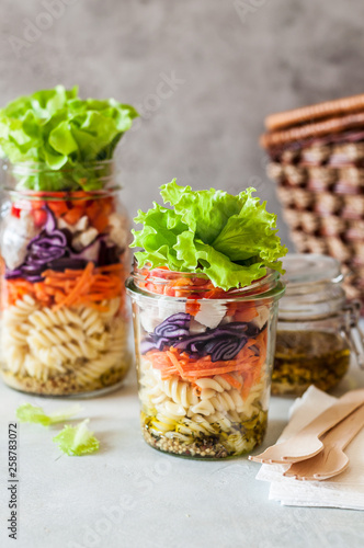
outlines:
[[46, 381], [71, 375], [84, 387], [123, 367], [126, 327], [120, 298], [104, 300], [102, 311], [87, 306], [54, 310], [24, 296], [3, 312], [2, 362], [14, 375]]

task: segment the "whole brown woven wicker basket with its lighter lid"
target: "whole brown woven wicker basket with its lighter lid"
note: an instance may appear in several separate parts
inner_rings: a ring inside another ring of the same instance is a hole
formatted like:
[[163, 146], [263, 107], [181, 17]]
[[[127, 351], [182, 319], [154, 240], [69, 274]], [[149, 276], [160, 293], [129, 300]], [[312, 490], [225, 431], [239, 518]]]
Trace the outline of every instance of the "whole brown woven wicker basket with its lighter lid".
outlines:
[[297, 251], [342, 263], [364, 310], [364, 94], [276, 113], [260, 142]]

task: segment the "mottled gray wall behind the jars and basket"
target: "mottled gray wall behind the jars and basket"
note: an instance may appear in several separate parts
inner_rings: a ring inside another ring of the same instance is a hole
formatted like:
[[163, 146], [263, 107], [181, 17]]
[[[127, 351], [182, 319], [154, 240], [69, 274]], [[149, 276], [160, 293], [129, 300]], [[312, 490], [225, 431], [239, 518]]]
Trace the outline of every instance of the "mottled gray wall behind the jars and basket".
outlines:
[[0, 105], [57, 83], [129, 102], [143, 113], [117, 151], [130, 215], [173, 176], [254, 185], [288, 243], [263, 118], [363, 92], [363, 21], [362, 0], [1, 0]]

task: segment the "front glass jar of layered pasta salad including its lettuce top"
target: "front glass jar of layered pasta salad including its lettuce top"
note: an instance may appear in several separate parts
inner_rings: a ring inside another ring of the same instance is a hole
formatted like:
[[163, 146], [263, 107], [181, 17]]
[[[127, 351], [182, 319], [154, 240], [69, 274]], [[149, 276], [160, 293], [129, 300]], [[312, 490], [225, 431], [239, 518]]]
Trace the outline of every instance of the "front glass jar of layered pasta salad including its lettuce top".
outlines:
[[275, 216], [252, 197], [161, 187], [136, 222], [132, 297], [141, 429], [184, 457], [219, 459], [263, 439], [273, 364], [278, 258]]

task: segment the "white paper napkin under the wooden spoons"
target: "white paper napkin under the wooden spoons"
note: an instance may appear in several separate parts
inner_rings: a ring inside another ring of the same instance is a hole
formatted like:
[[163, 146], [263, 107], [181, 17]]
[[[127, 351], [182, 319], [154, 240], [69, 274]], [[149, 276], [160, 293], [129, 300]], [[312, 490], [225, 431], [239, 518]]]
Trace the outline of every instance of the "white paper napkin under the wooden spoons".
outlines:
[[[337, 398], [310, 387], [289, 411], [289, 423], [278, 442], [287, 439], [334, 403]], [[262, 465], [257, 479], [270, 481], [270, 499], [289, 506], [329, 506], [364, 510], [364, 430], [346, 447], [350, 465], [342, 473], [325, 481], [285, 478], [286, 465]]]

